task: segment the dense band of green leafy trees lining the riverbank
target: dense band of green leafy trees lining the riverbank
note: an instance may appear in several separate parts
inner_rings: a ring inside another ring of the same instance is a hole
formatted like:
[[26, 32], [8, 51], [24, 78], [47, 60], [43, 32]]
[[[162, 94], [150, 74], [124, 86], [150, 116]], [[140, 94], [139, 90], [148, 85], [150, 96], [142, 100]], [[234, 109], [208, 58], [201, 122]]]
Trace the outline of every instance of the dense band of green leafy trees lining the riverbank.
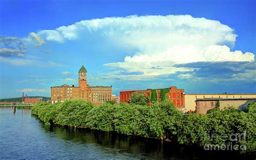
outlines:
[[[32, 107], [31, 113], [45, 124], [115, 131], [201, 147], [235, 145], [240, 149], [244, 145], [246, 150], [243, 148], [241, 152], [250, 154], [255, 154], [256, 150], [255, 102], [247, 105], [244, 111], [233, 107], [222, 111], [215, 108], [207, 115], [199, 116], [184, 115], [167, 101], [153, 103], [152, 106], [134, 103], [95, 106], [82, 100], [53, 104], [40, 102]], [[238, 138], [240, 134], [242, 136]]]

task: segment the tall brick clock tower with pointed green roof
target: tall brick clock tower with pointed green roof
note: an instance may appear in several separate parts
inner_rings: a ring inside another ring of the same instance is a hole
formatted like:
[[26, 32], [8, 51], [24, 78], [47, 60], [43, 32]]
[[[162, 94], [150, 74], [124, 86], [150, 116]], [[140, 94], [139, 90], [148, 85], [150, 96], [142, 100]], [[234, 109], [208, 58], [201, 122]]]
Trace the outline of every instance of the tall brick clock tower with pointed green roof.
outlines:
[[80, 99], [87, 100], [87, 98], [89, 98], [89, 93], [87, 92], [88, 91], [87, 78], [86, 78], [87, 70], [84, 67], [84, 65], [82, 65], [78, 73], [79, 73], [79, 87], [80, 87], [79, 97]]

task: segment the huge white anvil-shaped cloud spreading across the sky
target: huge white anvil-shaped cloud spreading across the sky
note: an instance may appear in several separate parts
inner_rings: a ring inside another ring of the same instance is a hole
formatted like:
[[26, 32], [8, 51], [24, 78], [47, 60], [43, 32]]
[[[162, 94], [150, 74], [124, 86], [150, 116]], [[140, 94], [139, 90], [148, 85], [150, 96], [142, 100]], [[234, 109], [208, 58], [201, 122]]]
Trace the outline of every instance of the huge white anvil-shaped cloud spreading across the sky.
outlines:
[[108, 75], [120, 79], [144, 80], [177, 72], [180, 72], [180, 78], [188, 78], [183, 72], [194, 68], [173, 65], [200, 61], [254, 61], [255, 57], [251, 52], [231, 51], [237, 35], [230, 26], [190, 15], [106, 17], [82, 20], [37, 34], [59, 43], [66, 40], [86, 43], [93, 38], [104, 39], [113, 50], [117, 46], [130, 48], [133, 55], [130, 53], [124, 61], [105, 64], [131, 73]]

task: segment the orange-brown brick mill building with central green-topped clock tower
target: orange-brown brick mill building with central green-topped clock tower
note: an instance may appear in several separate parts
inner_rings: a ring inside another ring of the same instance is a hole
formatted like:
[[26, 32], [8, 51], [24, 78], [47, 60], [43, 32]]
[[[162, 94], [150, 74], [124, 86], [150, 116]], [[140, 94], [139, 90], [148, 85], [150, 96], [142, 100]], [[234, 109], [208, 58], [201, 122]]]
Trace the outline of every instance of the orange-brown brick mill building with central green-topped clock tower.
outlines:
[[65, 100], [85, 100], [99, 105], [112, 100], [112, 86], [89, 86], [87, 85], [87, 70], [82, 65], [78, 71], [79, 86], [62, 85], [51, 87], [51, 102], [63, 102]]

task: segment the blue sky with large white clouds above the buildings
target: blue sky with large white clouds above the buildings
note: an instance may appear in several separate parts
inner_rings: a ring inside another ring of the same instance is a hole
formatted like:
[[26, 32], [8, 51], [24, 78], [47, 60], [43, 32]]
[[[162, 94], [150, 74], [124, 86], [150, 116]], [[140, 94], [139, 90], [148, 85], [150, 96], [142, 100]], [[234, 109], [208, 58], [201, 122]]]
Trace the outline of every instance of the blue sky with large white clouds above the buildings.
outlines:
[[0, 0], [0, 98], [51, 86], [256, 93], [255, 1]]

